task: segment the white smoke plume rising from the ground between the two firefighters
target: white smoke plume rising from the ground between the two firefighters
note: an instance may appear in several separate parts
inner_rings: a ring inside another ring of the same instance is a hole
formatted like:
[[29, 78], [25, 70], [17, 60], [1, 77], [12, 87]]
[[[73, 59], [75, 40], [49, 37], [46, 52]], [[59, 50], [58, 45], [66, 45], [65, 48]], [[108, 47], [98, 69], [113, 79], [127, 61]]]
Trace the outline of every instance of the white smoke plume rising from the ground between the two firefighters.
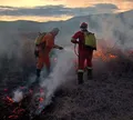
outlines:
[[[58, 56], [58, 61], [53, 71], [45, 80], [42, 80], [40, 87], [44, 90], [40, 93], [40, 97], [44, 98], [43, 103], [41, 103], [40, 110], [37, 110], [38, 113], [51, 102], [51, 98], [54, 96], [55, 90], [62, 84], [70, 82], [72, 80], [74, 69], [73, 60], [75, 54], [71, 52], [70, 49], [65, 49]], [[43, 78], [42, 78], [43, 79]]]

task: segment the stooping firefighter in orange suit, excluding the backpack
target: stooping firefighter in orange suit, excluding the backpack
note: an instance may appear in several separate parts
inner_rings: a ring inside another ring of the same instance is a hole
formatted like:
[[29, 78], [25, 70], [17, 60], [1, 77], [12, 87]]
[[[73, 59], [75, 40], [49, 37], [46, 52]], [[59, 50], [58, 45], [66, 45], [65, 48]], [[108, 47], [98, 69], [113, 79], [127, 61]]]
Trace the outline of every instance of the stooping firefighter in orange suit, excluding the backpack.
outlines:
[[45, 66], [48, 74], [50, 73], [50, 52], [53, 48], [62, 50], [63, 48], [60, 46], [54, 44], [55, 36], [59, 33], [58, 28], [53, 28], [52, 31], [48, 32], [43, 39], [41, 40], [40, 44], [38, 46], [38, 61], [37, 61], [37, 77], [40, 77], [40, 72]]

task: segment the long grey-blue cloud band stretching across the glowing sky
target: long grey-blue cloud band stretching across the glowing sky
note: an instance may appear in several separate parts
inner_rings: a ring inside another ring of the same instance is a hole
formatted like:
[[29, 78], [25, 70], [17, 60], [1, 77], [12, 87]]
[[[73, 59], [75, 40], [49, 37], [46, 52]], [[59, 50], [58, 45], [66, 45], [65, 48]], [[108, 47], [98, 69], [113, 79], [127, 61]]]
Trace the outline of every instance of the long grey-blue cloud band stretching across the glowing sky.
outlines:
[[17, 8], [0, 6], [0, 16], [43, 16], [43, 17], [59, 17], [59, 16], [84, 16], [100, 12], [113, 12], [117, 10], [115, 4], [100, 3], [86, 8], [68, 8], [64, 6], [39, 6], [33, 8]]

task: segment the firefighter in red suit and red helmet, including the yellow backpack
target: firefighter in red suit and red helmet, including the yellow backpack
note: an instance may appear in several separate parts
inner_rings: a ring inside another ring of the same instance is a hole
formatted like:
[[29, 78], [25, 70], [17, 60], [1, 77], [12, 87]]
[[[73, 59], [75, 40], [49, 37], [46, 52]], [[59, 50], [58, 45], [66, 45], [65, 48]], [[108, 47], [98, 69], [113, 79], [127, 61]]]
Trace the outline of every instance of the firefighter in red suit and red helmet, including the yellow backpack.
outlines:
[[92, 79], [92, 58], [93, 50], [96, 50], [96, 41], [94, 33], [88, 30], [88, 23], [80, 24], [80, 31], [72, 36], [71, 42], [79, 44], [79, 67], [78, 67], [78, 83], [83, 83], [84, 61], [86, 60], [88, 79]]

